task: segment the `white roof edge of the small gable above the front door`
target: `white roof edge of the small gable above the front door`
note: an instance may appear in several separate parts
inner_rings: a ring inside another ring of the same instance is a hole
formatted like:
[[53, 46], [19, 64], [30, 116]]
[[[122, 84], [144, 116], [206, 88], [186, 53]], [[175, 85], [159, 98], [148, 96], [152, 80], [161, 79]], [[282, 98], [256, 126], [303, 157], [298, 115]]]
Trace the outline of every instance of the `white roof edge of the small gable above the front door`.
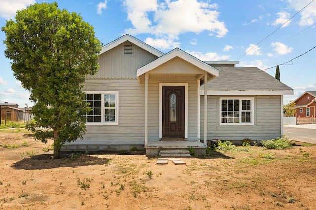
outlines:
[[191, 63], [192, 65], [198, 67], [201, 70], [206, 71], [207, 73], [211, 74], [212, 76], [218, 76], [218, 69], [215, 67], [212, 67], [205, 62], [197, 59], [196, 57], [190, 55], [189, 53], [184, 52], [183, 50], [179, 48], [175, 48], [171, 50], [170, 52], [164, 54], [163, 56], [159, 57], [158, 59], [146, 64], [145, 66], [142, 66], [137, 72], [137, 77], [139, 78], [141, 75], [149, 72], [150, 70], [170, 61], [171, 59], [178, 57], [183, 59], [186, 62]]

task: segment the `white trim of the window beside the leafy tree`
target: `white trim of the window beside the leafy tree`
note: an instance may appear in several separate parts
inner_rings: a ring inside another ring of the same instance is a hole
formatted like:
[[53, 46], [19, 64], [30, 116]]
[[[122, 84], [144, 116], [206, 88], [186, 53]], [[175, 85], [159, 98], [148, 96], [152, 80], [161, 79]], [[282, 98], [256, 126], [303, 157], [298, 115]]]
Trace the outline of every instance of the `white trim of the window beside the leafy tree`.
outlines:
[[[118, 125], [119, 124], [119, 91], [84, 91], [85, 94], [101, 94], [101, 122], [86, 122], [86, 125]], [[115, 122], [104, 122], [104, 95], [115, 95]]]

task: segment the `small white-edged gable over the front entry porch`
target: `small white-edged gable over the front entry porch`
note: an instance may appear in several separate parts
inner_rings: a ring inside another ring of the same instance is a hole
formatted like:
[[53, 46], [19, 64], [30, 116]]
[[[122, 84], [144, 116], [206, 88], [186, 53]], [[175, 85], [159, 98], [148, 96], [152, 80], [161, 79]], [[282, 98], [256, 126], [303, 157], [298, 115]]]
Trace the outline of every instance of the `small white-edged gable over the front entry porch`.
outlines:
[[[207, 80], [210, 81], [219, 75], [219, 71], [198, 60], [194, 56], [176, 48], [169, 53], [159, 57], [149, 64], [136, 70], [137, 78], [141, 82], [145, 78], [145, 74], [163, 74], [164, 76], [172, 75], [188, 75], [196, 76], [196, 79], [204, 79], [207, 73]], [[167, 75], [166, 75], [167, 74]]]

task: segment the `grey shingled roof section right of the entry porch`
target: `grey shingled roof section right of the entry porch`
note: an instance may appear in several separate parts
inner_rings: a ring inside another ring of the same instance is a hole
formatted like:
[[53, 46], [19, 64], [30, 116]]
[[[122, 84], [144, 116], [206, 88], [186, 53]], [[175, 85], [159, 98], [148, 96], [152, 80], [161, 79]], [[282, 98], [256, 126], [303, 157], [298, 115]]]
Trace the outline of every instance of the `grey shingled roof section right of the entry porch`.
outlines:
[[292, 88], [257, 67], [218, 67], [217, 69], [219, 69], [219, 77], [209, 82], [208, 95], [293, 94]]

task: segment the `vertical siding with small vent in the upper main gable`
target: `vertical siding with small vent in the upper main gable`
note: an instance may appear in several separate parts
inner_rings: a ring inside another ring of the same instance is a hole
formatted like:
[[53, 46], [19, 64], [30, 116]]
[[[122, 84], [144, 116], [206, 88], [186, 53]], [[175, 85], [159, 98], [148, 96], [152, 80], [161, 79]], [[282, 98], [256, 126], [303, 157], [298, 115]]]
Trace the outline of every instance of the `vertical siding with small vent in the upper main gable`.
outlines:
[[[125, 42], [131, 43], [131, 42]], [[98, 59], [100, 68], [88, 79], [131, 79], [136, 78], [136, 69], [158, 57], [133, 44], [133, 55], [124, 55], [124, 43], [103, 53]]]

